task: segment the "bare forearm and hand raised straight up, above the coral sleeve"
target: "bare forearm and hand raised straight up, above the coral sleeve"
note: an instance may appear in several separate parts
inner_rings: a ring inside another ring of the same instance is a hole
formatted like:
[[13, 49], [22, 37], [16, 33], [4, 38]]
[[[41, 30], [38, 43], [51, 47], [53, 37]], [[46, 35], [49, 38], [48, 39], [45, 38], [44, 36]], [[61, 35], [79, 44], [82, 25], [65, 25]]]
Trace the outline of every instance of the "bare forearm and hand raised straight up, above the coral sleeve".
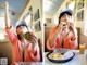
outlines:
[[10, 28], [9, 4], [8, 4], [8, 2], [4, 3], [4, 22], [5, 22], [5, 27]]

